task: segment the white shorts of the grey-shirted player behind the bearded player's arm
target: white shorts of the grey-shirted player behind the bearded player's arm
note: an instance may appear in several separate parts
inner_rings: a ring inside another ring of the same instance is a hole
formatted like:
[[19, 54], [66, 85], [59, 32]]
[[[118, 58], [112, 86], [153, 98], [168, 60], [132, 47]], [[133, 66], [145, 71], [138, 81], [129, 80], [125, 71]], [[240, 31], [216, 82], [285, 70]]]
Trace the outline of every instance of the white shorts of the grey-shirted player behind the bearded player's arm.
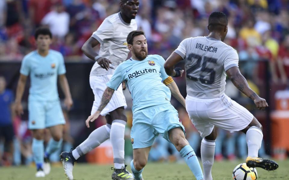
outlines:
[[[90, 76], [89, 83], [90, 87], [92, 88], [94, 94], [94, 101], [91, 110], [91, 114], [94, 114], [101, 102], [101, 97], [107, 88], [106, 83], [110, 81], [112, 74], [104, 75], [104, 76]], [[101, 111], [101, 116], [105, 116], [109, 114], [109, 112], [119, 108], [124, 107], [126, 108], [126, 98], [123, 95], [123, 88], [120, 84], [120, 87], [117, 88], [117, 91], [114, 91], [112, 98], [110, 99], [107, 106]]]

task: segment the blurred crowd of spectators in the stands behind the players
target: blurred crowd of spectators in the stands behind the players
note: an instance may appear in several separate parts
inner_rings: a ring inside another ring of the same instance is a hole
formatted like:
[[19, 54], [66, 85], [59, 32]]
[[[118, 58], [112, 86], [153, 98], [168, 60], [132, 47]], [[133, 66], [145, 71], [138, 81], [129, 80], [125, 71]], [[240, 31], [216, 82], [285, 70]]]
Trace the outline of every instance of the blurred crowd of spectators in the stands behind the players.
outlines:
[[[3, 0], [0, 2], [0, 60], [21, 61], [35, 49], [33, 30], [49, 26], [52, 49], [67, 61], [84, 61], [81, 46], [105, 17], [119, 11], [119, 0]], [[272, 80], [286, 83], [289, 76], [289, 2], [286, 0], [140, 0], [136, 21], [149, 40], [149, 53], [165, 59], [179, 43], [208, 33], [211, 12], [228, 16], [225, 43], [241, 61], [246, 74], [258, 80], [269, 60]], [[259, 73], [258, 73], [259, 70]]]

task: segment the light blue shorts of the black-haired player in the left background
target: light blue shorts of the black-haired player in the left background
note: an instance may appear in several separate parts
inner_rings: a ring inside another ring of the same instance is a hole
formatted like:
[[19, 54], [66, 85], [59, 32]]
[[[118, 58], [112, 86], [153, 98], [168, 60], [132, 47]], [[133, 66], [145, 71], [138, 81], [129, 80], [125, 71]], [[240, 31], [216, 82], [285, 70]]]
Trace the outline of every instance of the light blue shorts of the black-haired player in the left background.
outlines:
[[65, 124], [60, 101], [29, 101], [28, 116], [28, 129], [45, 129]]

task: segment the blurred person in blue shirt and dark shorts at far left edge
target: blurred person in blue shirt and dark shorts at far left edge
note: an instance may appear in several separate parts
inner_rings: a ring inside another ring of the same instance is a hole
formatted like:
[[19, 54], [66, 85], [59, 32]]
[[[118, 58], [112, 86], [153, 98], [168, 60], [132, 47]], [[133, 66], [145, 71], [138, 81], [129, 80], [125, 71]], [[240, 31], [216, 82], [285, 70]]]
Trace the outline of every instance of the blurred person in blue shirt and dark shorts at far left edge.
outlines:
[[14, 94], [11, 90], [6, 89], [5, 77], [0, 76], [0, 140], [4, 139], [4, 161], [2, 161], [2, 153], [0, 150], [0, 166], [11, 165], [13, 158], [13, 139], [14, 130], [12, 125], [12, 104]]

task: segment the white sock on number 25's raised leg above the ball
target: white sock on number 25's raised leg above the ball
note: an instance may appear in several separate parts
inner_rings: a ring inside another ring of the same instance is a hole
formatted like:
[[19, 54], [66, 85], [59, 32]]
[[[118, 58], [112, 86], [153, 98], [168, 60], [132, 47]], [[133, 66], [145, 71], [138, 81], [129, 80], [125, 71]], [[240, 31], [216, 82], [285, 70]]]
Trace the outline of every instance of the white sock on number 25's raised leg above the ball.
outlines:
[[258, 151], [261, 148], [263, 139], [262, 130], [256, 126], [252, 126], [246, 133], [246, 142], [248, 145], [248, 156], [258, 157]]

